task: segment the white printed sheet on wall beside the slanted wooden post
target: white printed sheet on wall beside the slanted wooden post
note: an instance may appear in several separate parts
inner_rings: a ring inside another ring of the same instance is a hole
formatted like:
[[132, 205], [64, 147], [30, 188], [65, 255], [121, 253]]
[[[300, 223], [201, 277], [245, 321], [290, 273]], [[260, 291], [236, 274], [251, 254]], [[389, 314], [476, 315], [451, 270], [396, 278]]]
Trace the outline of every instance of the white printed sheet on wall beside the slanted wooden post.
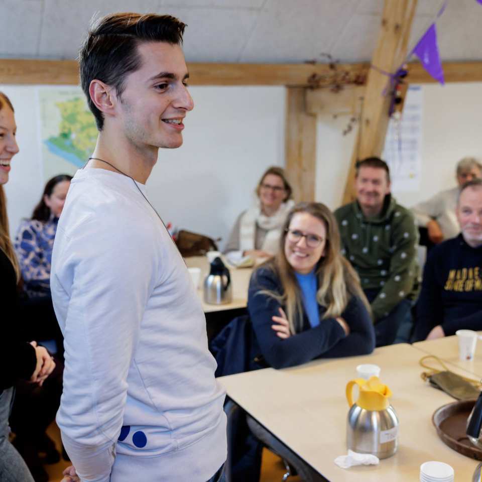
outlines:
[[422, 165], [422, 88], [410, 86], [400, 119], [391, 118], [382, 159], [387, 161], [395, 192], [419, 191]]

